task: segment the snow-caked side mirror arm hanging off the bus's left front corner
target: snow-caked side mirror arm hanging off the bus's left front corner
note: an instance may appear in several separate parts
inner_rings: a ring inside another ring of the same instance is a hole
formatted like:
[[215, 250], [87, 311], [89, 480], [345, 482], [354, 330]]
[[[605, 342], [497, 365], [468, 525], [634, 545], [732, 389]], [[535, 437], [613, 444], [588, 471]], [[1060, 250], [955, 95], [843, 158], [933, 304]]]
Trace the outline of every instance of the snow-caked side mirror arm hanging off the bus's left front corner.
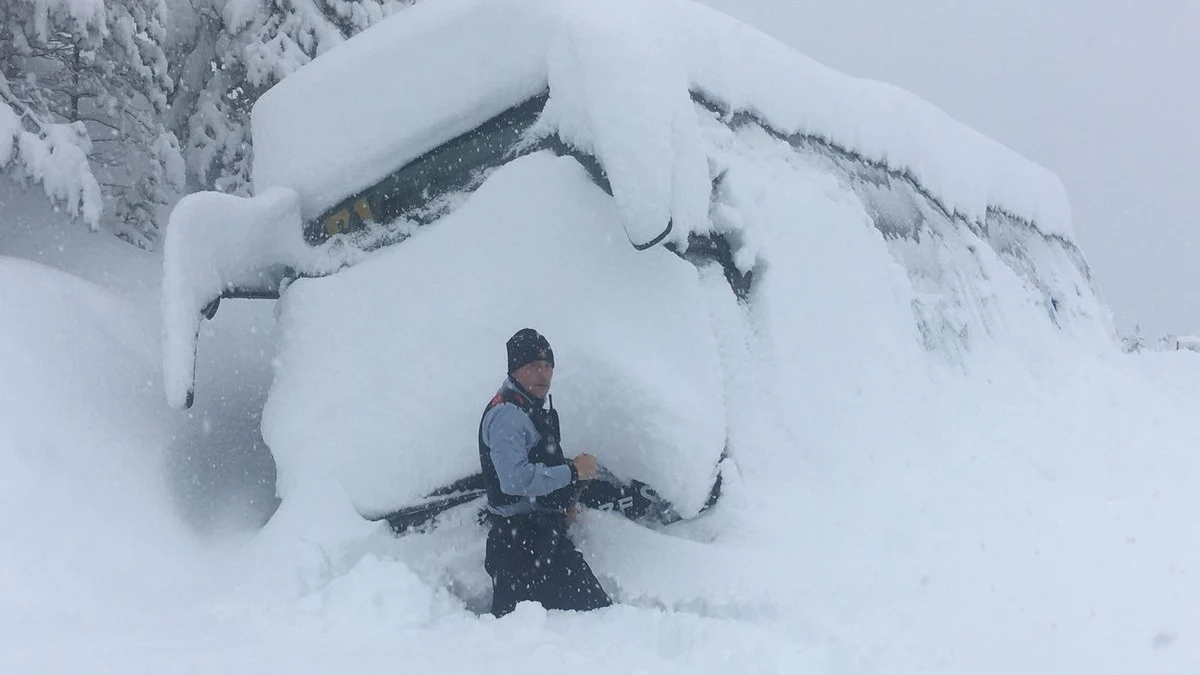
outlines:
[[162, 364], [170, 405], [192, 401], [200, 310], [234, 288], [278, 291], [283, 268], [306, 269], [314, 258], [290, 190], [248, 199], [198, 192], [179, 202], [163, 243]]

